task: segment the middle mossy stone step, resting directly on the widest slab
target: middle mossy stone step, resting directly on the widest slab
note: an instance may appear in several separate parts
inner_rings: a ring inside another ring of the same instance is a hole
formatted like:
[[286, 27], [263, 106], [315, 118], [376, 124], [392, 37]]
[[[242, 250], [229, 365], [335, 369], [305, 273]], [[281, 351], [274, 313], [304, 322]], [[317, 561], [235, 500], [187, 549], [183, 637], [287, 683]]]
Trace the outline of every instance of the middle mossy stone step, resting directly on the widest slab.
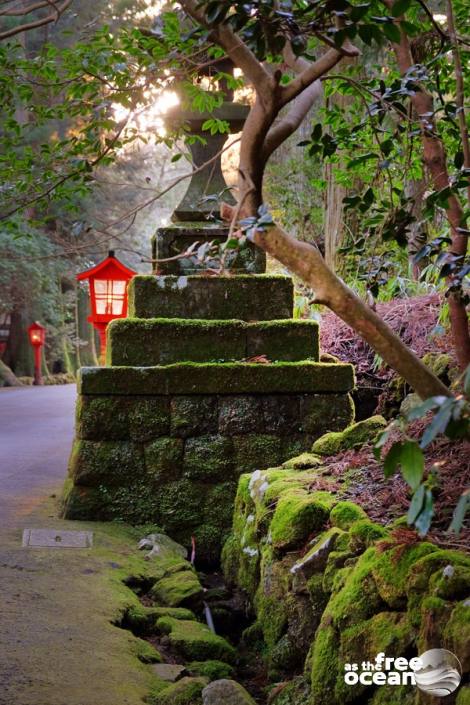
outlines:
[[192, 360], [318, 360], [316, 321], [121, 318], [108, 328], [109, 365], [168, 365]]

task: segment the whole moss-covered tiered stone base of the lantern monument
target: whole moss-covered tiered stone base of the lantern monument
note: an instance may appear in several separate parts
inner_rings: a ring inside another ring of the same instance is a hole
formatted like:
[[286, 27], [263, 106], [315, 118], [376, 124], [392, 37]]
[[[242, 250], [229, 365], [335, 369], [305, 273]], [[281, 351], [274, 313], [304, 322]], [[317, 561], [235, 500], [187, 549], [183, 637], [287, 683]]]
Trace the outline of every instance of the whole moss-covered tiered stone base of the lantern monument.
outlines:
[[[225, 235], [193, 213], [157, 233], [158, 258]], [[239, 475], [348, 425], [354, 373], [319, 362], [317, 323], [293, 320], [292, 280], [262, 273], [262, 253], [224, 276], [174, 266], [134, 277], [128, 318], [108, 328], [107, 366], [80, 371], [64, 515], [153, 522], [184, 544], [195, 536], [215, 560]]]

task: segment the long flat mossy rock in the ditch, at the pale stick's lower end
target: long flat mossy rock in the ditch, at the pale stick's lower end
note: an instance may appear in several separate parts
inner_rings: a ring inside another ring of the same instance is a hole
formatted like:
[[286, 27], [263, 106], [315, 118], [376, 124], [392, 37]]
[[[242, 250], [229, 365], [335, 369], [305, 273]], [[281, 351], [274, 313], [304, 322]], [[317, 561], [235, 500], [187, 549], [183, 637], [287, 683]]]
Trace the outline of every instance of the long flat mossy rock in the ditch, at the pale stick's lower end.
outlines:
[[171, 646], [188, 661], [216, 660], [233, 664], [237, 652], [223, 637], [199, 622], [160, 617], [157, 628], [167, 634]]

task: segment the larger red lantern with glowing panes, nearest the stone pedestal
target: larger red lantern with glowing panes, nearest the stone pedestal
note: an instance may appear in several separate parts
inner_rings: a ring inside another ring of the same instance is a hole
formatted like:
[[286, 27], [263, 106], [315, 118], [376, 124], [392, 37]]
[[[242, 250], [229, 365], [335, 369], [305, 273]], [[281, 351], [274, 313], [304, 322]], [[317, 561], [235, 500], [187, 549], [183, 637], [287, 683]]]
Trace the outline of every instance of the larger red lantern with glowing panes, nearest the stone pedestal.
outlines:
[[88, 279], [90, 283], [91, 316], [90, 323], [100, 334], [101, 360], [106, 355], [106, 328], [115, 318], [127, 316], [127, 284], [137, 274], [126, 267], [110, 250], [103, 262], [85, 272], [77, 274], [77, 279]]

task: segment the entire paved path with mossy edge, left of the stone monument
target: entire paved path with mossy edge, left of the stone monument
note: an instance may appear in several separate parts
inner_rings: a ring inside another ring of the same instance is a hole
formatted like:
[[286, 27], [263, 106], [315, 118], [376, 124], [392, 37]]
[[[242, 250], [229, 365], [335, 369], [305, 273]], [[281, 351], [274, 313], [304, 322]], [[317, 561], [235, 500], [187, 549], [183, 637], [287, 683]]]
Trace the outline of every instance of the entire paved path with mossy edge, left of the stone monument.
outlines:
[[[0, 390], [0, 705], [142, 705], [153, 676], [111, 622], [145, 572], [137, 534], [61, 521], [75, 387]], [[91, 549], [22, 548], [24, 527], [91, 529]]]

